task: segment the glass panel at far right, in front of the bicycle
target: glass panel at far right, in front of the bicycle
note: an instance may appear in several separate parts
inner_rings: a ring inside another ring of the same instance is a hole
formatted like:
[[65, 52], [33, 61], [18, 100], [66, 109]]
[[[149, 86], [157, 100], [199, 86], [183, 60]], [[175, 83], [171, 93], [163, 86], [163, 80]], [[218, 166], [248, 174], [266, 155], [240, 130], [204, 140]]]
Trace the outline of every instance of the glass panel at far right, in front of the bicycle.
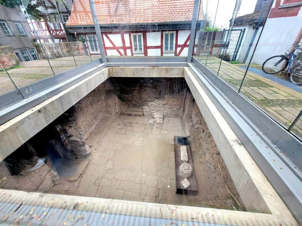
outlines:
[[[299, 31], [294, 30], [296, 28], [294, 22], [284, 24], [277, 22], [277, 19], [284, 18], [279, 5], [280, 1], [276, 1], [275, 8], [271, 9], [264, 26], [265, 18], [262, 18], [259, 23], [246, 27], [247, 35], [243, 36], [243, 45], [239, 49], [238, 62], [235, 62], [235, 65], [241, 71], [241, 69], [246, 69], [247, 63], [249, 63], [240, 93], [287, 129], [302, 110], [302, 89], [300, 85], [293, 83], [298, 83], [299, 75], [302, 76], [302, 74], [295, 73], [300, 68], [297, 64], [301, 62], [302, 37], [299, 34], [300, 28]], [[267, 6], [261, 7], [262, 11], [268, 11], [265, 8]], [[293, 8], [288, 8], [287, 13], [291, 14], [295, 11]], [[290, 19], [291, 17], [288, 18], [288, 20]], [[294, 21], [294, 19], [292, 20]], [[235, 24], [236, 22], [235, 19]], [[285, 52], [288, 58], [281, 58], [280, 55]], [[227, 64], [229, 63], [227, 62]], [[280, 71], [281, 69], [283, 70]], [[238, 81], [244, 74], [243, 71], [238, 75]], [[291, 74], [294, 75], [293, 80], [291, 80]], [[239, 86], [238, 82], [236, 87]], [[302, 137], [300, 123], [299, 121], [293, 131]]]

